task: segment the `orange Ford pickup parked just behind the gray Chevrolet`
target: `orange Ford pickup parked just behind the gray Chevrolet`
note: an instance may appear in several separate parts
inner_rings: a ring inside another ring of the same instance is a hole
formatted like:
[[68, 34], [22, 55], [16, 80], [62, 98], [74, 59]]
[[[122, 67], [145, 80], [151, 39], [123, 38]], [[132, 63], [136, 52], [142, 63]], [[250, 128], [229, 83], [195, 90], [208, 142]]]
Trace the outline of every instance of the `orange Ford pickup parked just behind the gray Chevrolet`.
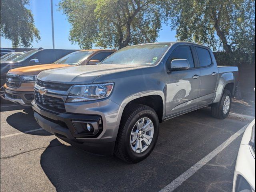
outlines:
[[43, 70], [78, 65], [98, 64], [116, 50], [80, 50], [72, 52], [52, 64], [26, 66], [9, 70], [4, 84], [4, 99], [22, 105], [30, 105], [34, 99], [36, 76]]

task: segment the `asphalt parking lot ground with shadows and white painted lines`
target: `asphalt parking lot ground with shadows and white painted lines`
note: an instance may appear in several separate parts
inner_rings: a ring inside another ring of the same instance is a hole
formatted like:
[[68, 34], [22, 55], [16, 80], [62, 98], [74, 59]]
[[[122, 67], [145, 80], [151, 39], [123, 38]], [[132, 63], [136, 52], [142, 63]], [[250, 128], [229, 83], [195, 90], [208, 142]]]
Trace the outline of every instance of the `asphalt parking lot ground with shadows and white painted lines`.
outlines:
[[[160, 124], [152, 154], [137, 164], [90, 156], [40, 129], [32, 109], [1, 106], [1, 191], [232, 191], [250, 116], [225, 120], [203, 108]], [[216, 149], [217, 148], [217, 149]]]

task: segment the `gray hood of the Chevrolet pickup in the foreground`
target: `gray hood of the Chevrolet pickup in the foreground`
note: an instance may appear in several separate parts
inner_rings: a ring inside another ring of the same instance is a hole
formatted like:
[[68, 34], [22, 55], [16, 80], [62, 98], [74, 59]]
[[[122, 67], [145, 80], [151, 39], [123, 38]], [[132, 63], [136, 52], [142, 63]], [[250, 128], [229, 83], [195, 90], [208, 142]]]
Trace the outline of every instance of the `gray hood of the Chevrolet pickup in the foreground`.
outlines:
[[46, 70], [38, 75], [38, 79], [46, 82], [63, 82], [70, 84], [86, 84], [92, 83], [102, 74], [112, 74], [145, 66], [122, 65], [122, 64], [100, 64], [65, 67], [60, 69]]

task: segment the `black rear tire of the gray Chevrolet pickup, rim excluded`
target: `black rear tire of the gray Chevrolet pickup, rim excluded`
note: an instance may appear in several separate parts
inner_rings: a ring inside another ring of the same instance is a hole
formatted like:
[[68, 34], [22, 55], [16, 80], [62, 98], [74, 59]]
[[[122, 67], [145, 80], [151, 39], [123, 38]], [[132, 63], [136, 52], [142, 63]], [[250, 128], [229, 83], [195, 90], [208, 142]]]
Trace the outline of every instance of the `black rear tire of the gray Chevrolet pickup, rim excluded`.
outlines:
[[[226, 96], [229, 96], [229, 99], [230, 99], [230, 106], [229, 106], [229, 109], [228, 109], [228, 112], [226, 114], [224, 114], [224, 111], [223, 111], [223, 105], [224, 105], [224, 100], [226, 98]], [[230, 108], [231, 108], [231, 104], [232, 104], [232, 96], [231, 96], [231, 93], [229, 90], [224, 90], [223, 91], [223, 94], [222, 94], [222, 97], [220, 99], [220, 102], [218, 103], [215, 103], [212, 105], [212, 116], [214, 118], [218, 118], [218, 119], [225, 119], [228, 117], [228, 114], [230, 112]]]

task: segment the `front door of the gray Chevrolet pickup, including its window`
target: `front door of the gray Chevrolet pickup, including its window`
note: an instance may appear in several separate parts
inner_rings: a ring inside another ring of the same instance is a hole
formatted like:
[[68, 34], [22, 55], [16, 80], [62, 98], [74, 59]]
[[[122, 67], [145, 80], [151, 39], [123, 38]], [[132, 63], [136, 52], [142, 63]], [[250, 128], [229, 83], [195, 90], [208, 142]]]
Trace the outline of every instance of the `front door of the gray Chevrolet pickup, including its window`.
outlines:
[[200, 68], [195, 68], [195, 60], [190, 46], [176, 47], [167, 62], [173, 59], [187, 59], [190, 69], [172, 71], [166, 82], [166, 116], [172, 116], [198, 105], [200, 92]]

